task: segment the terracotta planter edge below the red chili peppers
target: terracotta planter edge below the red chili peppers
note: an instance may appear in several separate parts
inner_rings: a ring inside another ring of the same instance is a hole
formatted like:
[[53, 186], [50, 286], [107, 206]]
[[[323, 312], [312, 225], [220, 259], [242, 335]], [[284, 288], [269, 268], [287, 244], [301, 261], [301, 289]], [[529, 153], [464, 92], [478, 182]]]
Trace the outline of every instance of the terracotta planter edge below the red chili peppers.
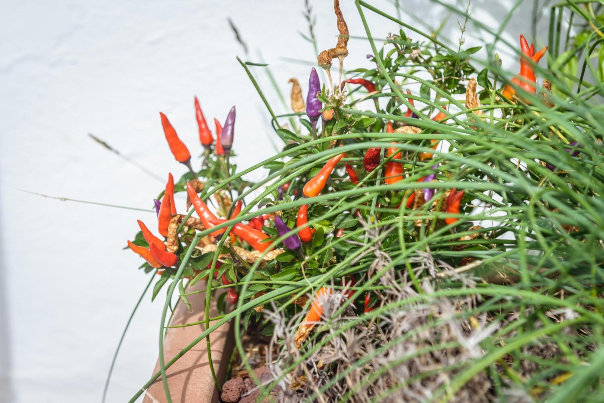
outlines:
[[[190, 291], [205, 290], [204, 282], [199, 282]], [[216, 296], [220, 295], [219, 290]], [[222, 291], [224, 292], [224, 291]], [[189, 312], [184, 303], [176, 308], [171, 325], [199, 322], [205, 317], [205, 293], [193, 294], [188, 297], [192, 311]], [[212, 299], [210, 317], [218, 316], [215, 299]], [[214, 322], [211, 322], [214, 323]], [[169, 361], [194, 338], [205, 330], [204, 325], [187, 326], [186, 328], [169, 329], [164, 340], [164, 358]], [[228, 360], [233, 352], [233, 326], [227, 322], [210, 335], [212, 363], [220, 381], [226, 376]], [[187, 354], [166, 370], [170, 396], [173, 402], [217, 402], [219, 392], [208, 365], [208, 354], [205, 340], [200, 341]], [[153, 373], [159, 371], [159, 360]], [[147, 389], [143, 403], [166, 402], [161, 376]]]

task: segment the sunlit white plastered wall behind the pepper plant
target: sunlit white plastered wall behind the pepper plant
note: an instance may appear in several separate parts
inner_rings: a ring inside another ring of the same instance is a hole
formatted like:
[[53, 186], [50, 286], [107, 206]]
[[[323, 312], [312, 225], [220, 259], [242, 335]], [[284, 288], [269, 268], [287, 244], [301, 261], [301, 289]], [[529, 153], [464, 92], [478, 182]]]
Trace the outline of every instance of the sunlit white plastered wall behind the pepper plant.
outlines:
[[[396, 14], [391, 2], [373, 4]], [[403, 19], [440, 21], [442, 7], [401, 1]], [[475, 0], [474, 16], [498, 25], [511, 0]], [[501, 4], [495, 4], [501, 3]], [[320, 49], [335, 43], [330, 1], [312, 0]], [[483, 7], [483, 11], [479, 9]], [[201, 151], [194, 120], [198, 95], [208, 122], [237, 105], [234, 150], [240, 167], [272, 152], [278, 138], [235, 56], [244, 56], [226, 18], [266, 62], [289, 100], [289, 77], [306, 94], [312, 46], [303, 1], [5, 0], [0, 13], [0, 401], [99, 401], [123, 326], [147, 277], [122, 250], [150, 212], [58, 201], [18, 191], [150, 208], [163, 183], [88, 138], [94, 133], [161, 177], [184, 173], [162, 135], [167, 113], [191, 153]], [[342, 9], [353, 36], [364, 31], [350, 0]], [[367, 11], [374, 36], [398, 27]], [[518, 14], [507, 39], [529, 30]], [[546, 20], [547, 21], [547, 20]], [[469, 27], [469, 33], [473, 28]], [[408, 33], [409, 34], [409, 33]], [[527, 32], [530, 34], [530, 32]], [[455, 16], [443, 37], [455, 41]], [[350, 40], [349, 68], [369, 66], [365, 40]], [[504, 60], [513, 65], [513, 60]], [[337, 65], [337, 63], [336, 63]], [[516, 66], [516, 65], [515, 65]], [[261, 68], [254, 74], [277, 113], [285, 110]], [[289, 101], [288, 101], [289, 103]], [[253, 177], [252, 177], [253, 179]], [[183, 209], [181, 205], [179, 208]], [[144, 299], [127, 334], [109, 389], [127, 400], [156, 360], [159, 300]]]

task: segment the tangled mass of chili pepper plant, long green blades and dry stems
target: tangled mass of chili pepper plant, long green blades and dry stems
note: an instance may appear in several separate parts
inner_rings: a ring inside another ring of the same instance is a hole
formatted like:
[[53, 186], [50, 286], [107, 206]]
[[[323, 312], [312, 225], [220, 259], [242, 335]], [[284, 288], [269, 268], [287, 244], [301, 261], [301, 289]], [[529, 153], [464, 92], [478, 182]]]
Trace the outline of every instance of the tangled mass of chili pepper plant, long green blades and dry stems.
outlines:
[[[196, 100], [201, 144], [161, 115], [181, 174], [149, 195], [158, 223], [140, 221], [129, 241], [164, 301], [159, 333], [175, 303], [205, 293], [207, 330], [183, 352], [231, 321], [252, 373], [242, 334], [262, 329], [272, 381], [259, 399], [276, 387], [291, 401], [601, 401], [604, 7], [551, 5], [549, 37], [507, 42], [469, 8], [442, 4], [460, 20], [452, 42], [355, 4], [367, 61], [344, 69], [350, 33], [336, 0], [336, 45], [289, 80], [280, 114], [256, 78], [269, 66], [239, 60], [280, 152], [238, 167], [249, 130], [235, 107], [211, 133]], [[368, 26], [368, 13], [394, 31]], [[494, 40], [466, 47], [470, 26]], [[519, 74], [501, 68], [501, 48]], [[254, 171], [264, 179], [244, 179]], [[176, 360], [161, 358], [133, 399], [159, 377], [170, 396]]]

